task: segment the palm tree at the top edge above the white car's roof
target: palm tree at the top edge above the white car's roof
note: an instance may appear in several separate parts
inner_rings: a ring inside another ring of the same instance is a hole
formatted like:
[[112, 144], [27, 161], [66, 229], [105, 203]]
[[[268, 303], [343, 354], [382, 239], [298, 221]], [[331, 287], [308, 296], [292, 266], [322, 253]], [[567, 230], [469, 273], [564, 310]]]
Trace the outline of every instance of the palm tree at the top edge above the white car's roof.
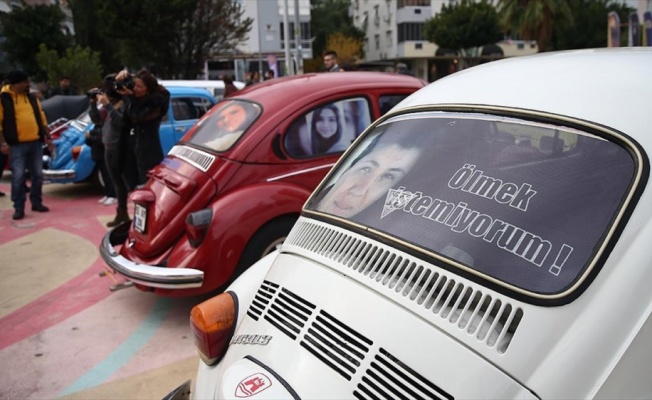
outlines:
[[498, 11], [506, 30], [536, 40], [539, 51], [550, 46], [553, 18], [573, 20], [567, 0], [499, 0]]

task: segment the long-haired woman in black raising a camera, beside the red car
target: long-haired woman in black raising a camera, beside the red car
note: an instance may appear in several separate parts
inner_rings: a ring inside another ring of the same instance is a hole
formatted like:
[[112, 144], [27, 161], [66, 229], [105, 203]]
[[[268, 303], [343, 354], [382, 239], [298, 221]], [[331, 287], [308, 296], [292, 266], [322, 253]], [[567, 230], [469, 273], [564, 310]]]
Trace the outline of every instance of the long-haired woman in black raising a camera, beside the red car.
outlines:
[[135, 158], [140, 186], [147, 182], [147, 172], [163, 161], [158, 130], [168, 111], [170, 92], [146, 69], [133, 76], [128, 71], [120, 71], [116, 80], [116, 91], [125, 100], [126, 151]]

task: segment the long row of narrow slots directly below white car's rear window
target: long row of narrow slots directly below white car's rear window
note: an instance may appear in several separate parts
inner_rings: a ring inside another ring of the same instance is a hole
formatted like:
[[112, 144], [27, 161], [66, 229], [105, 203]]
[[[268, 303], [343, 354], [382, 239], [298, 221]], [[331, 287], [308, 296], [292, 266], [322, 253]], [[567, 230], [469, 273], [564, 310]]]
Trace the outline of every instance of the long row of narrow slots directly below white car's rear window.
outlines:
[[[300, 219], [281, 250], [312, 253], [313, 258], [335, 265], [379, 293], [404, 305], [406, 301], [411, 303], [407, 306], [412, 312], [458, 339], [474, 338], [500, 354], [507, 351], [523, 317], [523, 310], [508, 298], [487, 293], [487, 289], [416, 257], [325, 223]], [[433, 315], [447, 324], [441, 324]]]

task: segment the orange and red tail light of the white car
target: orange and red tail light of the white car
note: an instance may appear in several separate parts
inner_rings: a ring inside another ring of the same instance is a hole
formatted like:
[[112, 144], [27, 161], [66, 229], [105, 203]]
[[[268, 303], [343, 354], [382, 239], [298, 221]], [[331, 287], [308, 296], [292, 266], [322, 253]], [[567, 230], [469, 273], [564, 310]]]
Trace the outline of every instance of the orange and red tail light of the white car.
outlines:
[[190, 329], [199, 357], [207, 365], [220, 361], [235, 332], [237, 321], [235, 293], [221, 293], [196, 305], [190, 311]]

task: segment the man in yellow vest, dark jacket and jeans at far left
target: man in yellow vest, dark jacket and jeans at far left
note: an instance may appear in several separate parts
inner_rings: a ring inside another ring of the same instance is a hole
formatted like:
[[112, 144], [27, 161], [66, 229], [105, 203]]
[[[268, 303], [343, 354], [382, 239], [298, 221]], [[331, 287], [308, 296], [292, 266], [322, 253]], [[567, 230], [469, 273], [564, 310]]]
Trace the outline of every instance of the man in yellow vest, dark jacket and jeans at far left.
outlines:
[[25, 217], [25, 170], [29, 170], [32, 187], [29, 200], [32, 211], [50, 211], [43, 205], [43, 142], [52, 146], [47, 134], [47, 119], [41, 102], [29, 93], [29, 77], [11, 71], [0, 92], [0, 151], [9, 155], [11, 165], [11, 200], [13, 219]]

